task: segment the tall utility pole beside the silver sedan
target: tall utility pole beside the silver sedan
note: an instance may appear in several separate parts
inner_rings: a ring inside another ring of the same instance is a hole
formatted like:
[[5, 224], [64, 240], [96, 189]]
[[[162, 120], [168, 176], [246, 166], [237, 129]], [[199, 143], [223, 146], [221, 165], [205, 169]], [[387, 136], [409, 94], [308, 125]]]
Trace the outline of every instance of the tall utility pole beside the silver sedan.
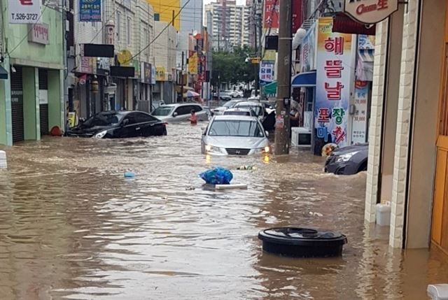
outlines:
[[277, 105], [275, 122], [275, 154], [289, 153], [289, 113], [291, 94], [291, 24], [292, 0], [280, 0], [279, 60], [277, 66]]

